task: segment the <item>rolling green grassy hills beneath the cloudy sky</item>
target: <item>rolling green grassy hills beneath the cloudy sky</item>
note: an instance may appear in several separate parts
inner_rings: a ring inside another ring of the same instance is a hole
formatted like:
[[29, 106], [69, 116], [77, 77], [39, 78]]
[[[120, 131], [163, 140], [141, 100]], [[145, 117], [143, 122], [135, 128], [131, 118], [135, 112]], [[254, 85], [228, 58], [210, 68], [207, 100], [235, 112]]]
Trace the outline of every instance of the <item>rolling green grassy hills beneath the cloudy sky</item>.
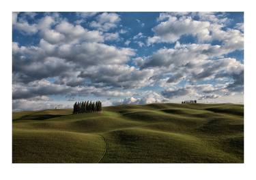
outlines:
[[120, 105], [12, 117], [14, 163], [244, 162], [244, 105]]

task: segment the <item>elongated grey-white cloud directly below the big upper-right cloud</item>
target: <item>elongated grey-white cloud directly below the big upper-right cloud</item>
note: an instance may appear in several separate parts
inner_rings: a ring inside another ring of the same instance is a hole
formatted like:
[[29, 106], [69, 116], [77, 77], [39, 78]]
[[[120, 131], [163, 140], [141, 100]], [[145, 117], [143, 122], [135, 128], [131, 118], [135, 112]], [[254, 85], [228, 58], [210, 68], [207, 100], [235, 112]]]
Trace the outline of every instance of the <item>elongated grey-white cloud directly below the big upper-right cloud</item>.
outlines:
[[193, 66], [197, 63], [214, 58], [216, 56], [222, 56], [232, 52], [229, 49], [225, 49], [221, 46], [212, 46], [209, 43], [205, 44], [180, 44], [176, 43], [174, 48], [161, 48], [154, 52], [152, 56], [148, 56], [145, 59], [137, 61], [137, 65], [141, 68], [147, 67], [169, 67], [170, 65], [181, 66]]

